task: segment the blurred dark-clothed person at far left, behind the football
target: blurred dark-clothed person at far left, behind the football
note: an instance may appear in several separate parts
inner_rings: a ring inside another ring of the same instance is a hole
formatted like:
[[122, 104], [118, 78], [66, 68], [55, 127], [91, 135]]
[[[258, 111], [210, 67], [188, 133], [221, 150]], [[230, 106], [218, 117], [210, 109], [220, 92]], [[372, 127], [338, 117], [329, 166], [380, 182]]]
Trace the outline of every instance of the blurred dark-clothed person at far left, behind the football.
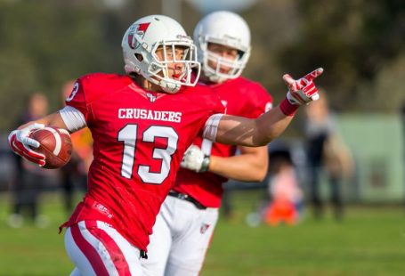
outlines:
[[[29, 98], [27, 113], [22, 115], [17, 126], [44, 117], [47, 113], [48, 100], [45, 95], [34, 93]], [[9, 215], [7, 223], [18, 228], [24, 223], [24, 218], [28, 217], [36, 226], [46, 227], [48, 218], [39, 214], [38, 199], [43, 184], [55, 171], [40, 168], [17, 155], [13, 155], [13, 160], [16, 162], [16, 170], [12, 176], [12, 214]]]

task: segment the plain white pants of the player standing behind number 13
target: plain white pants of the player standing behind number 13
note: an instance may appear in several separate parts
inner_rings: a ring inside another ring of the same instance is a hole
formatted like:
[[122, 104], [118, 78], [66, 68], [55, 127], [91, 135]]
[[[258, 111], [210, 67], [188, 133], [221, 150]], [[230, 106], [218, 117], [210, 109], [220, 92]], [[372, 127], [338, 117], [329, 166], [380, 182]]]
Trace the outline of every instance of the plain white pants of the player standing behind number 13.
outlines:
[[150, 235], [145, 276], [196, 276], [202, 268], [218, 208], [198, 209], [191, 202], [167, 196]]

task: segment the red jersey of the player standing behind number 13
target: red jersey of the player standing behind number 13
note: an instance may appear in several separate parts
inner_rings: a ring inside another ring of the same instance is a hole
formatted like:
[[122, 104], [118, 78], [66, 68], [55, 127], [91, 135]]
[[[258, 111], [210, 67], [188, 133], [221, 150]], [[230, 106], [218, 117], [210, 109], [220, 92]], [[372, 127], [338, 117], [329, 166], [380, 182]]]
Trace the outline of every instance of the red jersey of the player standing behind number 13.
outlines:
[[[209, 85], [218, 93], [226, 114], [246, 118], [257, 118], [271, 109], [271, 95], [255, 82], [238, 77], [219, 85]], [[198, 145], [208, 155], [230, 157], [236, 152], [236, 146], [211, 142], [197, 137], [193, 144]], [[185, 193], [206, 207], [220, 207], [223, 195], [223, 183], [228, 179], [213, 173], [195, 173], [181, 168], [177, 173], [174, 191]]]

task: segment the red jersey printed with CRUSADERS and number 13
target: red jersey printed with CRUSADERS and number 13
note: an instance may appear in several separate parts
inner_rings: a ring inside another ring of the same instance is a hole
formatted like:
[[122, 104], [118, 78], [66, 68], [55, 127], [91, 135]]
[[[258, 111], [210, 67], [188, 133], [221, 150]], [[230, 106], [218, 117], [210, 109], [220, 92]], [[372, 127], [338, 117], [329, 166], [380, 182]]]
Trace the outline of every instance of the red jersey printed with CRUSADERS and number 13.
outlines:
[[146, 250], [184, 151], [207, 118], [224, 112], [211, 89], [194, 89], [147, 92], [130, 77], [109, 74], [77, 80], [66, 103], [84, 114], [94, 159], [88, 192], [67, 225], [100, 220]]

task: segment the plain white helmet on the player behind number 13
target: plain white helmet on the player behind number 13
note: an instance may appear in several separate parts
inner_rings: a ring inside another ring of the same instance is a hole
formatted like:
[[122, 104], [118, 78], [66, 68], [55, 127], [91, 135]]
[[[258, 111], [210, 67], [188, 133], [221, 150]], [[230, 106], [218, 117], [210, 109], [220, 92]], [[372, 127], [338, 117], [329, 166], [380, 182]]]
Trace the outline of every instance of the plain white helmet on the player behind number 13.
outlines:
[[[239, 77], [250, 56], [250, 29], [247, 22], [234, 12], [212, 12], [200, 20], [194, 29], [194, 43], [198, 48], [198, 60], [204, 74], [210, 81], [222, 83], [224, 80]], [[226, 45], [239, 50], [237, 60], [223, 59], [208, 51], [208, 43]], [[216, 68], [208, 66], [208, 61], [216, 61]], [[220, 71], [220, 66], [231, 67], [228, 73]]]

